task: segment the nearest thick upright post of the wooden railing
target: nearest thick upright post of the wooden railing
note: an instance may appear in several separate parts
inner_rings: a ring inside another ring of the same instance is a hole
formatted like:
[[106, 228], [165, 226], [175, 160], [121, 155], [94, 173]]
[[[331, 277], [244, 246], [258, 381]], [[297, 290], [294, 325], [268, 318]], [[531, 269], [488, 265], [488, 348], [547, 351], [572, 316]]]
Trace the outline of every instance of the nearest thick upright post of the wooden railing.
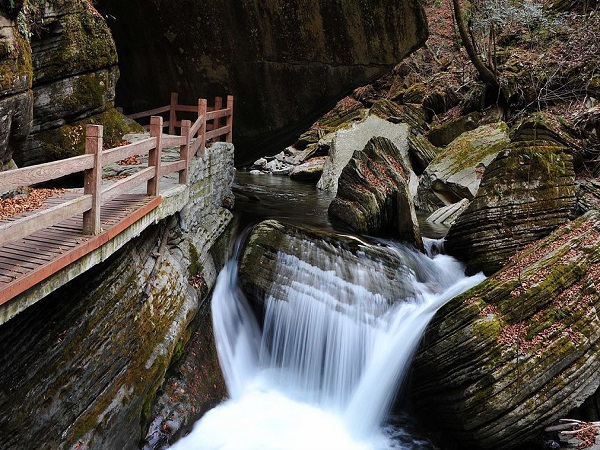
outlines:
[[83, 233], [100, 234], [100, 206], [102, 199], [102, 125], [87, 125], [85, 153], [94, 155], [94, 167], [83, 172], [83, 195], [92, 196], [92, 209], [83, 213]]

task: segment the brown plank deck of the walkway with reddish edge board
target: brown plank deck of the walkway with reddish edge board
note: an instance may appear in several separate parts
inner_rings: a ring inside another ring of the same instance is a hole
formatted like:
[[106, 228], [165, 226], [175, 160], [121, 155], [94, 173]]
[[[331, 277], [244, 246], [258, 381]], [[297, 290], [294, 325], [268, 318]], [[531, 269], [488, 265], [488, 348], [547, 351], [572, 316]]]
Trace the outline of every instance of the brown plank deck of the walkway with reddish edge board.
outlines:
[[[65, 192], [50, 197], [46, 199], [42, 209], [67, 202], [80, 195]], [[101, 232], [97, 236], [82, 233], [83, 218], [78, 215], [25, 238], [1, 245], [0, 305], [107, 243], [156, 208], [161, 201], [161, 197], [124, 194], [106, 202], [101, 208]], [[0, 220], [0, 224], [35, 212]]]

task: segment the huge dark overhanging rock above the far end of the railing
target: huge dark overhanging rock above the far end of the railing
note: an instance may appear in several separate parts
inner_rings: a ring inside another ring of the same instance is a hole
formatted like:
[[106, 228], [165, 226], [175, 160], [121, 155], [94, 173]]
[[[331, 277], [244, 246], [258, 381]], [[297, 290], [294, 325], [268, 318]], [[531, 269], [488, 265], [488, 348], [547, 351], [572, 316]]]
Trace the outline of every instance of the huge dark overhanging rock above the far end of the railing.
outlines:
[[122, 106], [164, 105], [171, 91], [182, 101], [233, 93], [239, 162], [262, 156], [251, 153], [251, 143], [264, 151], [259, 138], [314, 118], [427, 37], [414, 0], [106, 0], [101, 7], [115, 18]]

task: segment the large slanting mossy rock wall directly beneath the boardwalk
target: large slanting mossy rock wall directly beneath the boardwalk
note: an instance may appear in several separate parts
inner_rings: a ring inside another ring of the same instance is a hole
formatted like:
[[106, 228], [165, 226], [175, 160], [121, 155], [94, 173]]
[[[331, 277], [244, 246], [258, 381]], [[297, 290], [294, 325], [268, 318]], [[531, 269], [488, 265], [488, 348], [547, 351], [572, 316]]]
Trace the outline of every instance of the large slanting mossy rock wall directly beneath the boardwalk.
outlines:
[[197, 310], [178, 261], [153, 256], [162, 228], [0, 327], [3, 448], [137, 448]]

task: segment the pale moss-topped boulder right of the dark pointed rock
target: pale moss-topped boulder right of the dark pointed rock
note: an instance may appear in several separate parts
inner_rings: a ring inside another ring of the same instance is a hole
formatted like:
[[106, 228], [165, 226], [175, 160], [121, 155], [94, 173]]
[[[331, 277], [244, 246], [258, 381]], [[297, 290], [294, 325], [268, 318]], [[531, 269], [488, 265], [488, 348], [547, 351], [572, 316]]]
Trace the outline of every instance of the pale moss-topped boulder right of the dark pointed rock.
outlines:
[[433, 212], [477, 194], [485, 168], [509, 143], [506, 126], [481, 126], [452, 141], [429, 164], [421, 179], [415, 205]]

